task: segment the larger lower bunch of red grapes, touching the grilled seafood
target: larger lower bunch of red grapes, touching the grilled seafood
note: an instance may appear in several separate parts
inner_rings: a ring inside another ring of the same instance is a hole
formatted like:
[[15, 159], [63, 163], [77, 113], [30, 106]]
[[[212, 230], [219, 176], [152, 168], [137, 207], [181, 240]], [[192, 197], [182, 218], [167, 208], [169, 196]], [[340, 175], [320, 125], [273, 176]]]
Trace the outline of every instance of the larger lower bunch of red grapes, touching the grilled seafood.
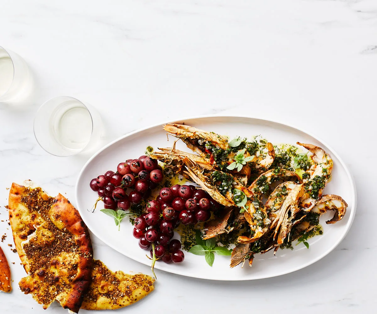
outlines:
[[[147, 202], [147, 213], [135, 219], [132, 234], [139, 239], [139, 247], [149, 250], [155, 244], [155, 255], [166, 263], [181, 263], [184, 253], [181, 242], [172, 239], [179, 224], [197, 224], [211, 217], [211, 210], [219, 204], [207, 192], [193, 185], [173, 185], [160, 190], [156, 200]], [[172, 240], [171, 240], [172, 239]], [[151, 257], [153, 256], [150, 250]]]

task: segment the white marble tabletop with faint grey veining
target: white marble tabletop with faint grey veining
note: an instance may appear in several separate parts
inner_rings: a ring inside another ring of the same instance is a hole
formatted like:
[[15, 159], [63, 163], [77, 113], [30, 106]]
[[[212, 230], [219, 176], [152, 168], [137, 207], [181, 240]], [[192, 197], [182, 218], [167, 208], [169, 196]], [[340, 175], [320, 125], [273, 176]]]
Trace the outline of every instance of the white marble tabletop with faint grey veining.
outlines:
[[[105, 4], [106, 3], [106, 4]], [[156, 271], [155, 291], [118, 312], [255, 311], [353, 313], [375, 309], [374, 156], [377, 2], [18, 1], [0, 2], [0, 45], [21, 55], [34, 93], [0, 103], [0, 218], [12, 181], [32, 179], [75, 204], [74, 185], [89, 158], [58, 158], [33, 135], [41, 103], [69, 95], [95, 106], [103, 143], [159, 121], [199, 114], [279, 119], [326, 139], [349, 165], [358, 190], [356, 218], [319, 262], [280, 277], [215, 282]], [[371, 173], [371, 174], [369, 174]], [[12, 294], [1, 313], [47, 311], [25, 296], [11, 230], [0, 222]], [[113, 270], [148, 272], [92, 237], [95, 257]], [[80, 311], [81, 312], [81, 311]], [[85, 312], [85, 311], [82, 311]]]

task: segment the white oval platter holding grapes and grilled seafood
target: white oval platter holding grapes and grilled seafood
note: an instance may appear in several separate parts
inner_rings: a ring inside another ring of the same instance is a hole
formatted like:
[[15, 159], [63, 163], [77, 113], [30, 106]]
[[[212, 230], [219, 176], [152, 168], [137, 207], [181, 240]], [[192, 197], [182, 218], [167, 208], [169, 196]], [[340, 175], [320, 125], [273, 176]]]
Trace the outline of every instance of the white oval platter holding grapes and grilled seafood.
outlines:
[[[337, 153], [323, 141], [297, 128], [255, 118], [205, 116], [176, 122], [184, 122], [199, 129], [228, 135], [230, 138], [235, 136], [252, 138], [260, 134], [273, 144], [295, 144], [299, 141], [320, 146], [331, 155], [334, 161], [332, 179], [323, 194], [331, 193], [342, 196], [348, 203], [348, 208], [345, 217], [336, 224], [325, 224], [325, 221], [332, 217], [333, 212], [326, 213], [321, 217], [323, 235], [308, 239], [309, 249], [304, 245], [297, 245], [294, 246], [293, 251], [278, 250], [276, 256], [272, 251], [264, 255], [256, 254], [253, 267], [249, 267], [246, 263], [244, 268], [238, 266], [231, 269], [229, 268], [229, 256], [218, 255], [215, 256], [213, 267], [210, 267], [205, 262], [204, 256], [185, 252], [184, 262], [166, 264], [158, 261], [155, 268], [184, 276], [212, 280], [268, 278], [291, 273], [311, 265], [331, 252], [345, 237], [355, 216], [356, 188], [348, 167]], [[162, 129], [162, 125], [124, 135], [95, 153], [84, 165], [76, 183], [77, 209], [90, 231], [116, 251], [146, 265], [150, 265], [150, 260], [146, 257], [146, 253], [149, 254], [149, 251], [139, 248], [138, 240], [132, 236], [133, 226], [128, 218], [123, 219], [120, 231], [118, 231], [113, 219], [99, 211], [103, 208], [101, 202], [98, 203], [97, 210], [93, 213], [90, 211], [97, 199], [97, 194], [90, 189], [89, 182], [107, 170], [115, 171], [119, 162], [144, 155], [147, 146], [152, 146], [155, 149], [170, 147], [173, 140], [174, 138], [170, 137], [170, 141], [167, 142], [166, 132]], [[177, 148], [189, 150], [181, 141], [177, 142]]]

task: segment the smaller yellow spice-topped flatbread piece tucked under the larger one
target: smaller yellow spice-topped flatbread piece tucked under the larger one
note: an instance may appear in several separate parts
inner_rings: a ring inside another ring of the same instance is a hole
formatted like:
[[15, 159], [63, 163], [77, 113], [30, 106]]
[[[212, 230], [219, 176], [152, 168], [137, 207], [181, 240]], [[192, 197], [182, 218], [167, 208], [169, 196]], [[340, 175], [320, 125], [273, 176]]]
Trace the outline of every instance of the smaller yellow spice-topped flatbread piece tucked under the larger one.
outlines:
[[100, 260], [93, 262], [92, 282], [82, 309], [118, 309], [143, 299], [153, 291], [155, 280], [144, 274], [113, 273]]

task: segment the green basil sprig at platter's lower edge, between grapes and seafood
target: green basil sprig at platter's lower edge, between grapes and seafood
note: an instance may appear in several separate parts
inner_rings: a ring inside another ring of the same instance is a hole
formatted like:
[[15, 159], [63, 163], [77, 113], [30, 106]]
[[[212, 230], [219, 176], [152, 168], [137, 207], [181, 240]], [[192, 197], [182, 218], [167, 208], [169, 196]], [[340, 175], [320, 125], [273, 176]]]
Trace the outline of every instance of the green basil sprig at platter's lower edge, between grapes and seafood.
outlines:
[[204, 241], [201, 237], [200, 231], [196, 230], [195, 234], [196, 234], [195, 239], [196, 239], [197, 245], [194, 245], [190, 249], [189, 252], [195, 255], [204, 255], [205, 261], [211, 267], [213, 265], [213, 261], [215, 260], [215, 254], [213, 252], [215, 252], [218, 255], [227, 255], [227, 256], [232, 254], [231, 251], [228, 250], [227, 248], [219, 247], [216, 244], [215, 239], [212, 238], [212, 239], [208, 239]]

